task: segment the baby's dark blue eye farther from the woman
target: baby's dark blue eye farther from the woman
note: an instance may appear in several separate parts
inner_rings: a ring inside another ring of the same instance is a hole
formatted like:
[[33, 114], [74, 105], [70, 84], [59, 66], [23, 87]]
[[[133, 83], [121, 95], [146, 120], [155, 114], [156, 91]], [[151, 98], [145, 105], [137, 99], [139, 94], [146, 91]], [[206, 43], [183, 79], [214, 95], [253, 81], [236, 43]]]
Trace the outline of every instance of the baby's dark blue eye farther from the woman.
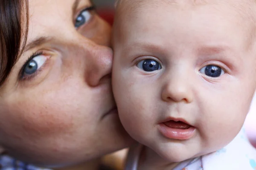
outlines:
[[220, 77], [222, 74], [225, 74], [224, 70], [216, 65], [207, 65], [199, 71], [209, 77]]

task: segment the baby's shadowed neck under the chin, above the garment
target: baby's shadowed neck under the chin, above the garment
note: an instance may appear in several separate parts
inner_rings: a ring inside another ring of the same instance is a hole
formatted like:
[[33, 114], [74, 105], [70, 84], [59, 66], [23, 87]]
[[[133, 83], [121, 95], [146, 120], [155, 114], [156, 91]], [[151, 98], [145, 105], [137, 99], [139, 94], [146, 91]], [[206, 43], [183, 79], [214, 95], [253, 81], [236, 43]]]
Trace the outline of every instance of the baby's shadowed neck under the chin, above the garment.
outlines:
[[154, 150], [144, 146], [138, 162], [138, 170], [172, 170], [179, 162], [169, 162]]

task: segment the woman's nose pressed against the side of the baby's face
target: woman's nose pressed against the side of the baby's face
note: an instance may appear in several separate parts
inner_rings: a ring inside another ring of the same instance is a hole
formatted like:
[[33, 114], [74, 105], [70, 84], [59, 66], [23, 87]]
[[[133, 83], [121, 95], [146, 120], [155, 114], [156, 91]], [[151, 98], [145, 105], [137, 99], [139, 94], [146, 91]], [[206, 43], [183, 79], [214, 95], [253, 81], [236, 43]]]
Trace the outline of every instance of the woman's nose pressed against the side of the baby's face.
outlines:
[[[110, 80], [113, 64], [113, 51], [111, 48], [95, 45], [90, 50], [90, 63], [87, 63], [86, 82], [90, 86], [97, 86], [106, 79]], [[88, 60], [87, 60], [88, 61]]]

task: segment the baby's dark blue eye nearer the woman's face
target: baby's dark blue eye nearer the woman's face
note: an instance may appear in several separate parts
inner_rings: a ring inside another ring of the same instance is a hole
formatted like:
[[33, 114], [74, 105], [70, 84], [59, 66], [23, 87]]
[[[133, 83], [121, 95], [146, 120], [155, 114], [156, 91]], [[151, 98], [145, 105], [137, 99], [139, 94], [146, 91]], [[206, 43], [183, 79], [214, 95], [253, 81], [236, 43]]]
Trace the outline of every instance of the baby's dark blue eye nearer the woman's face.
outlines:
[[145, 59], [140, 61], [137, 64], [137, 67], [147, 72], [160, 70], [162, 68], [159, 62], [154, 59]]

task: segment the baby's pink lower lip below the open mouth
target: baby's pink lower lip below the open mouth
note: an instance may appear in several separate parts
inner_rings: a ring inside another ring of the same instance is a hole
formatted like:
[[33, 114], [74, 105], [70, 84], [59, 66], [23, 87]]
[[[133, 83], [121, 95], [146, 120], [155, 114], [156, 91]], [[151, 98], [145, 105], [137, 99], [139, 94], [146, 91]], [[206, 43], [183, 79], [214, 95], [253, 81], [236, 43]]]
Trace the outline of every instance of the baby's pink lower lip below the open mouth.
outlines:
[[188, 129], [177, 129], [166, 126], [164, 123], [158, 124], [158, 130], [163, 136], [169, 139], [188, 140], [195, 134], [195, 127], [191, 126]]

